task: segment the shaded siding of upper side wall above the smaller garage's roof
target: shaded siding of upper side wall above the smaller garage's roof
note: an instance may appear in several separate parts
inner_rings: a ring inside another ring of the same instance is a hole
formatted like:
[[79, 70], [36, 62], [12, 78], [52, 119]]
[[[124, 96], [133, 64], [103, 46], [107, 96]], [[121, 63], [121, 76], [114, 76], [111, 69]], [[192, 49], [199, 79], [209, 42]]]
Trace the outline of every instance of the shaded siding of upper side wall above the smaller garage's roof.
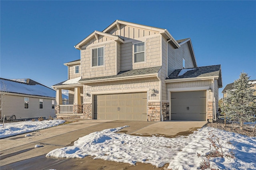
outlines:
[[174, 49], [174, 47], [168, 43], [168, 75], [175, 69], [182, 69], [182, 58], [185, 59], [185, 68], [194, 67], [188, 42], [182, 44], [180, 48], [177, 49]]

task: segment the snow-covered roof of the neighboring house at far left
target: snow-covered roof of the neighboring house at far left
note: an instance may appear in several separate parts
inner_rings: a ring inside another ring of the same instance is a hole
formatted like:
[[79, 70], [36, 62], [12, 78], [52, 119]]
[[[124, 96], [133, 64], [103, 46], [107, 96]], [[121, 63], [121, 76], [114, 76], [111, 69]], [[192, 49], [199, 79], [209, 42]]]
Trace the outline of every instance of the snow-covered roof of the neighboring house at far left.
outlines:
[[[16, 81], [14, 81], [16, 80]], [[4, 79], [0, 78], [1, 91], [23, 95], [34, 95], [42, 97], [56, 96], [56, 91], [32, 79]], [[22, 81], [23, 80], [23, 81]], [[24, 83], [26, 81], [26, 83]]]

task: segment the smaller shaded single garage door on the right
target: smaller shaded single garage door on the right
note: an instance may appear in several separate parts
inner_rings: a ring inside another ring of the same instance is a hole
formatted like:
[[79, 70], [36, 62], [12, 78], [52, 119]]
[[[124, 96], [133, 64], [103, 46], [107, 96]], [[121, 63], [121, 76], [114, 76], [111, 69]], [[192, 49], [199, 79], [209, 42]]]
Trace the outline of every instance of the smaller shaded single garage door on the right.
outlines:
[[171, 120], [206, 121], [206, 91], [171, 92]]

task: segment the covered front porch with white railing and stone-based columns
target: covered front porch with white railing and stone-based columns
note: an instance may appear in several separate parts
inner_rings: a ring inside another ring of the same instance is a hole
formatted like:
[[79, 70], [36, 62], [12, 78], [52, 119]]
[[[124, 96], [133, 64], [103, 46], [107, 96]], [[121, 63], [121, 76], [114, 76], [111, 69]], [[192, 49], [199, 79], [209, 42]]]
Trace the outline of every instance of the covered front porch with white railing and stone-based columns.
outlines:
[[[55, 114], [58, 117], [83, 117], [83, 86], [54, 87], [56, 89]], [[62, 103], [62, 90], [68, 90], [69, 103]]]

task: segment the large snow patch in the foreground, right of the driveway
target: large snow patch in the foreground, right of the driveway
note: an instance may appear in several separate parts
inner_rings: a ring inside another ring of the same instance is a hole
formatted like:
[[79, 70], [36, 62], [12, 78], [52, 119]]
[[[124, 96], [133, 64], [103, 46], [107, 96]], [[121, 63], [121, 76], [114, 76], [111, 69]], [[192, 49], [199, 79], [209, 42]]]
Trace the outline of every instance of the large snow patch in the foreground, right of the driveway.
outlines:
[[84, 156], [91, 155], [95, 156], [94, 159], [100, 158], [133, 165], [136, 162], [142, 162], [162, 167], [170, 163], [168, 168], [173, 170], [198, 169], [202, 158], [198, 158], [197, 153], [203, 155], [210, 152], [210, 141], [207, 138], [211, 131], [220, 138], [223, 152], [235, 154], [234, 159], [230, 157], [210, 158], [211, 168], [226, 170], [256, 168], [256, 137], [243, 136], [211, 127], [204, 127], [188, 136], [176, 138], [115, 133], [125, 127], [127, 126], [93, 132], [76, 140], [74, 146], [52, 150], [46, 156], [84, 158]]

